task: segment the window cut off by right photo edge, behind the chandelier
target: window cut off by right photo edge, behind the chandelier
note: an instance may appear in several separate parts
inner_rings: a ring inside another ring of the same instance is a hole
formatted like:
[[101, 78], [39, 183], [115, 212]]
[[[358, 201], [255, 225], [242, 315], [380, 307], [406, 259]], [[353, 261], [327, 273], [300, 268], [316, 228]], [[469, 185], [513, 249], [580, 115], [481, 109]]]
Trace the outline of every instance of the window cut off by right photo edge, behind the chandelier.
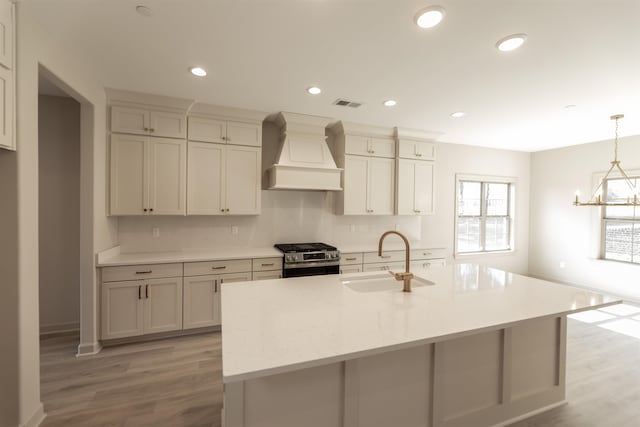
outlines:
[[[638, 185], [640, 178], [631, 178]], [[636, 187], [637, 188], [637, 187]], [[630, 193], [622, 178], [606, 179], [602, 194], [609, 203], [624, 203]], [[605, 206], [602, 210], [602, 258], [640, 264], [640, 207]]]

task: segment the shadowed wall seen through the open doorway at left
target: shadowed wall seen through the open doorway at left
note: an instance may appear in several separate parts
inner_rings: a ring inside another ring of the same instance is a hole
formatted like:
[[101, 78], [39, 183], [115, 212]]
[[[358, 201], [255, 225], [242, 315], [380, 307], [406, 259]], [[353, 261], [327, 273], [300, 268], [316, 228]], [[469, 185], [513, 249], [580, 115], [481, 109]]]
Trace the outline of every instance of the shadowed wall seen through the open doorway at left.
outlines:
[[40, 332], [80, 326], [80, 104], [38, 99]]

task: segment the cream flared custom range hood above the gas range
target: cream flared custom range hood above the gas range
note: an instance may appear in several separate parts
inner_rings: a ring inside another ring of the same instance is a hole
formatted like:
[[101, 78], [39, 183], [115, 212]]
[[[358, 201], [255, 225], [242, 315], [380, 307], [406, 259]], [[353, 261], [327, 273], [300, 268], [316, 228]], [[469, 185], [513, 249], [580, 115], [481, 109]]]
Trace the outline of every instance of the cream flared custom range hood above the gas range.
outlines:
[[276, 163], [268, 170], [270, 190], [342, 191], [342, 169], [336, 167], [327, 145], [326, 117], [281, 112]]

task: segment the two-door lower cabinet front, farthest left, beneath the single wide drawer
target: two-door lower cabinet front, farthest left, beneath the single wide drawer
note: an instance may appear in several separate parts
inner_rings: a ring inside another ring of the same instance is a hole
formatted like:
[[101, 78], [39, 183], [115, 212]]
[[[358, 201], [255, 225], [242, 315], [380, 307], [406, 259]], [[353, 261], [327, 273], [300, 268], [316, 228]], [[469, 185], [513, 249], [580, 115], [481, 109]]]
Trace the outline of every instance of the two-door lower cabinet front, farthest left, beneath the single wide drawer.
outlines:
[[182, 329], [182, 278], [102, 284], [103, 340]]

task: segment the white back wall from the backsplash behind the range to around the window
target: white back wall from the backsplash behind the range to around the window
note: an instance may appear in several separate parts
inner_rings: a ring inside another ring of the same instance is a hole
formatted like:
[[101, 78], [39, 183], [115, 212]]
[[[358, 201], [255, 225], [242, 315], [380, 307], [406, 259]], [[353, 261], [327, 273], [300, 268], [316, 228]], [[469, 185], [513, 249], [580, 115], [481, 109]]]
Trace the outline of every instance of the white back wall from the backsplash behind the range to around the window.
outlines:
[[[273, 164], [278, 140], [277, 132], [270, 125], [265, 125], [263, 130], [264, 169]], [[517, 177], [517, 250], [505, 255], [465, 258], [463, 262], [526, 273], [529, 154], [455, 144], [438, 145], [436, 214], [433, 216], [340, 216], [333, 213], [331, 192], [265, 190], [259, 216], [121, 217], [118, 240], [122, 252], [270, 247], [274, 243], [303, 241], [333, 243], [343, 250], [363, 245], [375, 250], [380, 235], [397, 226], [414, 244], [447, 248], [451, 262], [456, 173]], [[232, 226], [238, 226], [237, 235], [231, 234]], [[153, 227], [160, 229], [160, 237], [152, 236]]]

